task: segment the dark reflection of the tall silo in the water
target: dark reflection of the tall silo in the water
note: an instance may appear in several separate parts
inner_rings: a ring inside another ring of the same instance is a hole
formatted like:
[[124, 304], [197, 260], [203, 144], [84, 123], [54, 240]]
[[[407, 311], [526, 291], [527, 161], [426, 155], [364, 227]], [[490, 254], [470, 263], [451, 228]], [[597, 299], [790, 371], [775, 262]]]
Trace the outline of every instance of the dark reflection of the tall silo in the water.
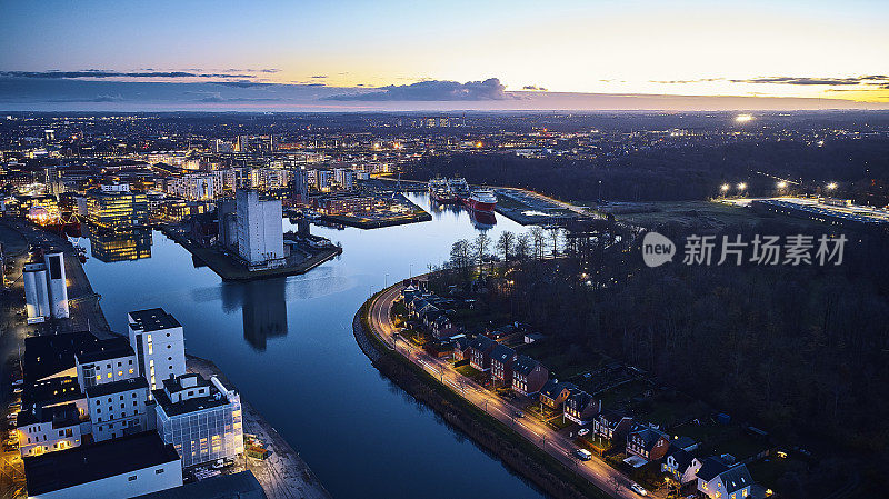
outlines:
[[249, 281], [242, 285], [243, 338], [257, 350], [266, 350], [269, 337], [287, 335], [284, 278]]

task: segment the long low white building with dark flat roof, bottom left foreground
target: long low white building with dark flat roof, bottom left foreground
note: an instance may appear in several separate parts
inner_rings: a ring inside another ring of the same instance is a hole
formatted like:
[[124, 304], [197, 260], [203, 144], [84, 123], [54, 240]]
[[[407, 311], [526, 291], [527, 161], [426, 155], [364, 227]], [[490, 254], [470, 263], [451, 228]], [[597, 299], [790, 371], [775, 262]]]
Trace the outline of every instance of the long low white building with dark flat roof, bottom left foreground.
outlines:
[[24, 458], [28, 497], [131, 498], [182, 485], [176, 449], [153, 431]]

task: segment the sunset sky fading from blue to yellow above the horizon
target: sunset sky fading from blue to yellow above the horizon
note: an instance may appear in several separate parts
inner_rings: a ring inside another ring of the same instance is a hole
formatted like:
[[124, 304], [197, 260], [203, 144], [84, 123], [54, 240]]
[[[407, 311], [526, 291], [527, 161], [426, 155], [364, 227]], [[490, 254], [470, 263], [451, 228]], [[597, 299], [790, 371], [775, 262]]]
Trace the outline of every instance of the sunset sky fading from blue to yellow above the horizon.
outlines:
[[10, 110], [889, 109], [887, 1], [0, 0], [0, 11]]

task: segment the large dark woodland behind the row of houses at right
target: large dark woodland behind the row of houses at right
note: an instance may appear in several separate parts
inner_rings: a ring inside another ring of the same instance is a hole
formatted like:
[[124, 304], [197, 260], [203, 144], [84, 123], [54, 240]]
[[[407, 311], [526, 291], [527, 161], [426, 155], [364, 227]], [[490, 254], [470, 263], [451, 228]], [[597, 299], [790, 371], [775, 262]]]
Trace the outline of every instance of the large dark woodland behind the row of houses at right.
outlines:
[[[771, 224], [725, 233], [791, 232]], [[707, 267], [679, 258], [649, 269], [635, 242], [629, 251], [602, 250], [563, 236], [535, 229], [507, 241], [458, 241], [448, 278], [472, 279], [470, 266], [488, 251], [508, 258], [510, 283], [490, 286], [488, 301], [551, 335], [566, 355], [609, 355], [767, 428], [783, 445], [811, 449], [821, 466], [783, 477], [787, 496], [819, 497], [831, 490], [823, 481], [845, 482], [848, 473], [885, 481], [886, 238], [850, 233], [840, 266]], [[553, 243], [560, 258], [539, 258]]]

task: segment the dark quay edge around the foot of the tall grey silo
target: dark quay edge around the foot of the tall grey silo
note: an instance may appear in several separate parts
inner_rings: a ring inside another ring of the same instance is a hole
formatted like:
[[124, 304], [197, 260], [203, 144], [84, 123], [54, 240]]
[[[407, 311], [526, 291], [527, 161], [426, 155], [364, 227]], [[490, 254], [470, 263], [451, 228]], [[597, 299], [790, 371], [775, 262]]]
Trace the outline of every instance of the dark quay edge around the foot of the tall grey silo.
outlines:
[[310, 250], [311, 255], [309, 257], [292, 266], [251, 271], [233, 258], [213, 248], [207, 248], [191, 242], [186, 236], [182, 236], [174, 229], [161, 226], [160, 231], [188, 250], [194, 258], [206, 263], [207, 267], [226, 281], [247, 281], [272, 277], [298, 276], [342, 253], [342, 248], [336, 246], [329, 248], [313, 248]]

